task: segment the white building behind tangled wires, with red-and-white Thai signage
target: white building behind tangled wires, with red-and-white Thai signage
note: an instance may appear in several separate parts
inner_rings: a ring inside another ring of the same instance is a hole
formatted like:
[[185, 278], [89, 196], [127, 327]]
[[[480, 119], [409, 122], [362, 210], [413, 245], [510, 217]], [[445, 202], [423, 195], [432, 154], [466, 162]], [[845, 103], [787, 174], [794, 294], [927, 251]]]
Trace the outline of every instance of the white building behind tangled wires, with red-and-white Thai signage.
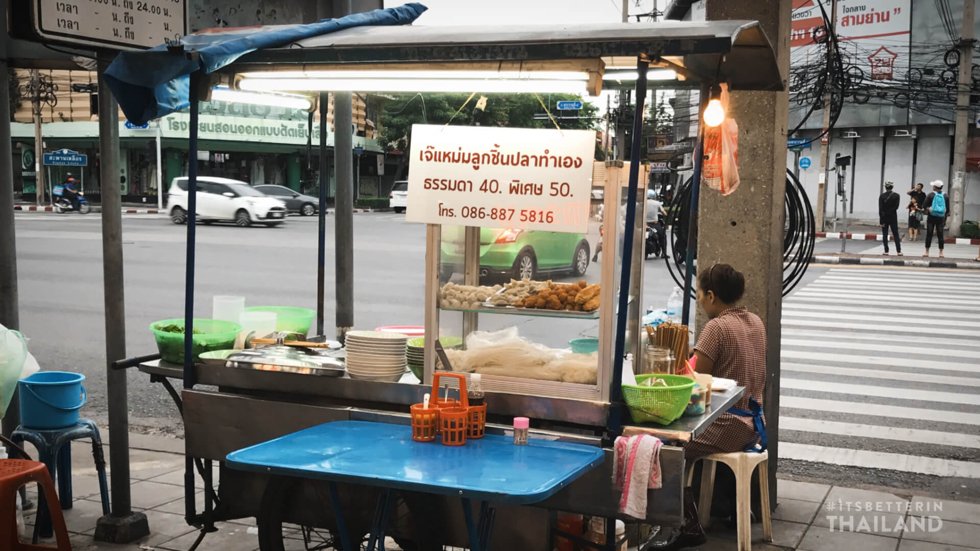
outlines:
[[[705, 2], [723, 0], [674, 0], [669, 19], [704, 20]], [[828, 164], [837, 155], [851, 156], [845, 188], [848, 217], [877, 224], [878, 196], [886, 181], [904, 194], [921, 182], [943, 180], [950, 191], [953, 177], [954, 119], [956, 116], [956, 52], [963, 10], [962, 0], [944, 0], [952, 22], [944, 23], [933, 0], [824, 0], [828, 17], [836, 13], [834, 26], [840, 45], [844, 76], [851, 85], [834, 127], [827, 133]], [[815, 0], [793, 0], [791, 36], [790, 130], [796, 138], [816, 138], [799, 153], [787, 150], [787, 168], [800, 179], [816, 209], [817, 187], [822, 177], [836, 183], [833, 172], [821, 170], [823, 98], [813, 97], [816, 83], [826, 72], [823, 14]], [[823, 28], [821, 28], [823, 27]], [[974, 21], [980, 36], [980, 11]], [[815, 40], [814, 40], [815, 37]], [[974, 48], [974, 68], [977, 53]], [[973, 87], [980, 87], [980, 70], [974, 69]], [[693, 120], [697, 92], [679, 93], [675, 115]], [[816, 109], [811, 109], [816, 104]], [[964, 219], [980, 217], [980, 121], [974, 91], [969, 120], [967, 180]], [[695, 112], [696, 113], [696, 112]], [[801, 124], [802, 121], [802, 124]], [[694, 136], [694, 124], [680, 124], [675, 139]], [[802, 162], [801, 162], [802, 161]], [[840, 219], [843, 207], [828, 186], [825, 199], [827, 229]], [[905, 204], [902, 205], [905, 207]], [[905, 216], [900, 215], [900, 220]]]

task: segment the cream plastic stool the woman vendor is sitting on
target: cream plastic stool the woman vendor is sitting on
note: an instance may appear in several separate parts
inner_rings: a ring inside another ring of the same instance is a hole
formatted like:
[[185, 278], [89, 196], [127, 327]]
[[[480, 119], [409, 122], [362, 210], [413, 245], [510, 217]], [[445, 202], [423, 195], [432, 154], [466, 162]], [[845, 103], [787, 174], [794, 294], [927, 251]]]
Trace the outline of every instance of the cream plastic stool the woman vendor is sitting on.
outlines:
[[735, 473], [735, 515], [738, 522], [738, 551], [752, 549], [752, 474], [759, 467], [759, 489], [762, 505], [762, 540], [772, 541], [772, 518], [769, 511], [769, 452], [736, 451], [734, 453], [712, 453], [691, 462], [687, 483], [691, 483], [694, 463], [705, 460], [701, 472], [701, 500], [698, 503], [698, 518], [703, 528], [708, 528], [711, 520], [711, 494], [714, 491], [715, 461], [720, 461]]

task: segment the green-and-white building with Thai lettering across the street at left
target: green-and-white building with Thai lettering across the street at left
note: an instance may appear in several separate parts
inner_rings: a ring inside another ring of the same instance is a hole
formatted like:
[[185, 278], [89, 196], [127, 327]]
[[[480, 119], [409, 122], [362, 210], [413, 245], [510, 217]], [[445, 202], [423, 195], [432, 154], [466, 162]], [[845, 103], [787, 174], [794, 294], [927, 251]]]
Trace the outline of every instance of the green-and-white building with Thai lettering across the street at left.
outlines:
[[[11, 123], [13, 152], [15, 156], [14, 192], [17, 199], [35, 199], [35, 160], [45, 172], [50, 198], [52, 185], [63, 182], [70, 174], [79, 181], [82, 189], [93, 201], [98, 201], [103, 183], [99, 174], [99, 122], [98, 115], [90, 111], [89, 94], [73, 92], [72, 84], [87, 84], [95, 80], [95, 74], [86, 70], [44, 70], [34, 74], [26, 69], [17, 70], [19, 84], [31, 78], [43, 76], [57, 84], [54, 105], [43, 104], [41, 109], [41, 133], [43, 153], [70, 150], [86, 156], [84, 165], [45, 164], [43, 156], [35, 151], [32, 106], [22, 98], [14, 111]], [[354, 135], [355, 182], [357, 197], [387, 197], [394, 174], [395, 162], [384, 170], [391, 156], [385, 156], [374, 140], [373, 110], [366, 98], [355, 96]], [[333, 128], [332, 99], [328, 106], [326, 136], [327, 196], [333, 197]], [[278, 184], [304, 193], [319, 194], [319, 115], [303, 110], [279, 107], [247, 105], [226, 102], [208, 102], [200, 105], [198, 126], [198, 156], [187, 156], [189, 113], [181, 112], [150, 121], [144, 127], [135, 127], [120, 114], [119, 185], [123, 202], [157, 205], [161, 182], [158, 182], [157, 165], [161, 165], [163, 191], [177, 176], [187, 174], [189, 162], [197, 162], [198, 173], [222, 176], [251, 184]], [[157, 159], [158, 151], [160, 160]], [[50, 156], [49, 156], [50, 157]], [[55, 161], [55, 160], [52, 160]], [[360, 165], [360, 166], [359, 166]], [[20, 167], [20, 169], [17, 169]], [[386, 178], [385, 173], [389, 176]]]

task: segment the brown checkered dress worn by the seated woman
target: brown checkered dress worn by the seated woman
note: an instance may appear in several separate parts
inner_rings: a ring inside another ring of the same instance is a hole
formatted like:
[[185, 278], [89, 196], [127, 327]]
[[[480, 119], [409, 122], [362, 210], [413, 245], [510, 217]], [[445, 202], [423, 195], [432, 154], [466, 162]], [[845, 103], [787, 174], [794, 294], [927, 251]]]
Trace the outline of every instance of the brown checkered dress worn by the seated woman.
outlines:
[[[765, 388], [765, 328], [745, 306], [721, 312], [701, 330], [695, 348], [714, 360], [711, 375], [734, 379], [746, 388], [735, 407], [749, 410], [749, 398], [762, 405]], [[711, 453], [742, 451], [759, 438], [751, 417], [723, 413], [704, 433], [684, 446], [688, 460]]]

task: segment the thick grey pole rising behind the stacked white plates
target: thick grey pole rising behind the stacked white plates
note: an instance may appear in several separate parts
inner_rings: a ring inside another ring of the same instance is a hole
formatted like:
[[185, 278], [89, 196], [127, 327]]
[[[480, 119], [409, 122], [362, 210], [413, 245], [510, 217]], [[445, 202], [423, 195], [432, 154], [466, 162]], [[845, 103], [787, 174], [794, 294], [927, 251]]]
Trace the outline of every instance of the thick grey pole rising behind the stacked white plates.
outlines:
[[351, 93], [333, 93], [334, 181], [337, 183], [334, 205], [334, 239], [336, 266], [337, 338], [343, 342], [354, 327], [354, 167], [351, 135]]

